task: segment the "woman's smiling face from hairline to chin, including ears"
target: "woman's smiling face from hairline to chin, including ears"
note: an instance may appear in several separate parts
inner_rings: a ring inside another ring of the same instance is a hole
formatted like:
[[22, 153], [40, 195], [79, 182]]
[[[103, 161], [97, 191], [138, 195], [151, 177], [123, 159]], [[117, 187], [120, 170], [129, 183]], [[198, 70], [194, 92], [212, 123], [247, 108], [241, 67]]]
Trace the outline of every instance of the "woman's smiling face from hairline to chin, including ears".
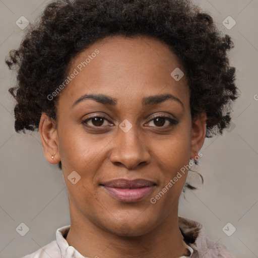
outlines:
[[[180, 169], [205, 137], [201, 120], [191, 123], [178, 68], [184, 71], [168, 46], [147, 37], [108, 37], [72, 61], [74, 76], [59, 93], [57, 130], [51, 144], [42, 141], [47, 160], [62, 162], [71, 215], [137, 236], [177, 213], [187, 174]], [[89, 94], [95, 97], [82, 99]]]

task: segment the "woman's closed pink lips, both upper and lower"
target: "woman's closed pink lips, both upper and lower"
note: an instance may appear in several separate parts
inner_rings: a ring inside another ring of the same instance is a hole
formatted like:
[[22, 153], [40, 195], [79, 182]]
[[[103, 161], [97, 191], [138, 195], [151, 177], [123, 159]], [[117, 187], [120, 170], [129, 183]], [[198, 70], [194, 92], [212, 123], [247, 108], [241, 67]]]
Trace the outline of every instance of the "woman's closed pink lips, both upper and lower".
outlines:
[[156, 183], [145, 179], [115, 179], [102, 184], [106, 191], [120, 202], [139, 202], [146, 198]]

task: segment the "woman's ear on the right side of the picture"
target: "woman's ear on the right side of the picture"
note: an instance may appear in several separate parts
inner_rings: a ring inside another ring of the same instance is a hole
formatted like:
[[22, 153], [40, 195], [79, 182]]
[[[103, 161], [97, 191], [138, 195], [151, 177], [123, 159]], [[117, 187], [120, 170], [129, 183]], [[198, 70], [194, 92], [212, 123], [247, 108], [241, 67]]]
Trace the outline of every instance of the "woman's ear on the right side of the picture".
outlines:
[[191, 129], [191, 159], [195, 160], [204, 144], [206, 136], [206, 120], [205, 112], [202, 112], [192, 121]]

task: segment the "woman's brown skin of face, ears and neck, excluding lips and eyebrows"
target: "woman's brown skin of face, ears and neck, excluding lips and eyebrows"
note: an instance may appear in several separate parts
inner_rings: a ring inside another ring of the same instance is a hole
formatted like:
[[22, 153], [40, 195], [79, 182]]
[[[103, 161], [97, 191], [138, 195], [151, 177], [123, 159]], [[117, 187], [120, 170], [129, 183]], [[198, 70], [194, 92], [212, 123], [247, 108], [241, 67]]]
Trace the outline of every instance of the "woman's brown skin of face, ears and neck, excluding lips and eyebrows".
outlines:
[[[177, 82], [170, 75], [175, 68], [184, 69], [163, 42], [144, 36], [106, 37], [71, 61], [69, 75], [95, 49], [100, 53], [59, 94], [57, 120], [42, 113], [39, 124], [45, 158], [51, 164], [62, 162], [71, 215], [67, 241], [87, 257], [186, 255], [178, 200], [187, 171], [156, 204], [150, 199], [197, 157], [207, 117], [202, 113], [191, 119], [186, 78]], [[86, 99], [72, 107], [86, 93], [105, 94], [117, 103]], [[142, 105], [144, 97], [160, 94], [171, 94], [182, 105], [171, 99]], [[82, 121], [92, 115], [107, 120], [89, 120], [87, 127]], [[158, 123], [157, 115], [178, 123]], [[119, 128], [124, 119], [133, 126], [127, 133]], [[76, 184], [68, 180], [72, 171], [81, 176]], [[156, 186], [144, 200], [122, 203], [100, 185], [116, 178], [143, 178]]]

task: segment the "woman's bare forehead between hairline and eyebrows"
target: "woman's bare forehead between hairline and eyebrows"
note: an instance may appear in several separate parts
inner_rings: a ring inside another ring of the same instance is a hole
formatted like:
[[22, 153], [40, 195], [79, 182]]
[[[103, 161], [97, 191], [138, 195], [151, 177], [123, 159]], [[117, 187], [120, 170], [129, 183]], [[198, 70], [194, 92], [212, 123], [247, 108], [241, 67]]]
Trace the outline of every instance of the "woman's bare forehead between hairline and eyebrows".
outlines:
[[69, 75], [76, 76], [65, 91], [71, 101], [85, 93], [141, 100], [141, 96], [174, 93], [188, 96], [186, 78], [176, 81], [171, 73], [184, 69], [165, 43], [146, 36], [106, 37], [78, 54]]

